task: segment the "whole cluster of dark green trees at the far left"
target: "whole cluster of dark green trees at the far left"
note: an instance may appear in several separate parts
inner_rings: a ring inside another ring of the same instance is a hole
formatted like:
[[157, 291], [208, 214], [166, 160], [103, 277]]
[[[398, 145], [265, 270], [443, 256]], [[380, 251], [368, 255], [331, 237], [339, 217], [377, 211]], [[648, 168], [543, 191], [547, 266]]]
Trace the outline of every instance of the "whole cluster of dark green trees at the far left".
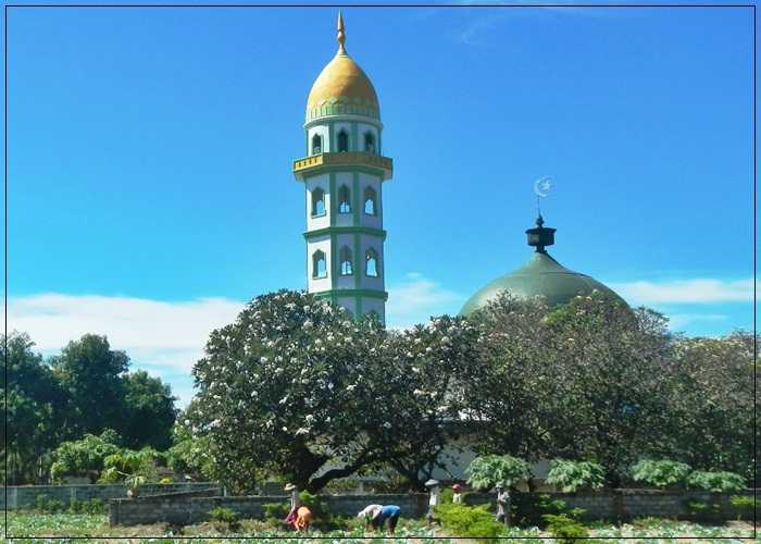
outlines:
[[[169, 388], [145, 372], [127, 373], [126, 355], [111, 350], [104, 336], [85, 335], [48, 360], [33, 351], [26, 334], [13, 332], [3, 341], [7, 483], [48, 483], [55, 448], [105, 429], [118, 432], [120, 445], [169, 444], [174, 421]], [[59, 465], [53, 472], [66, 470]]]

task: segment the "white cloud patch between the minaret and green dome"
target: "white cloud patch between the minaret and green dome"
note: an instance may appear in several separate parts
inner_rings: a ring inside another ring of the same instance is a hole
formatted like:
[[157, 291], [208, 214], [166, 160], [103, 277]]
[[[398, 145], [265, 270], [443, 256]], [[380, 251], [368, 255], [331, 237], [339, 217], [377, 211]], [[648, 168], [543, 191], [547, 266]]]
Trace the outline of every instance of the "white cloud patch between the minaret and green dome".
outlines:
[[464, 300], [419, 272], [410, 272], [403, 282], [388, 287], [386, 323], [391, 329], [406, 329], [426, 322], [431, 316], [457, 313]]

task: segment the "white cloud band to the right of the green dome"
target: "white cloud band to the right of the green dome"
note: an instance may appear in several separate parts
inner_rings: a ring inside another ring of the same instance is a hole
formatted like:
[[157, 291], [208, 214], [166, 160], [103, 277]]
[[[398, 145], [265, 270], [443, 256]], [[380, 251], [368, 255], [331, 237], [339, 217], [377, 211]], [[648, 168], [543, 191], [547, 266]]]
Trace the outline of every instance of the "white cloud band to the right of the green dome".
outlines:
[[753, 300], [753, 280], [727, 282], [698, 279], [609, 283], [608, 285], [634, 305], [751, 302]]

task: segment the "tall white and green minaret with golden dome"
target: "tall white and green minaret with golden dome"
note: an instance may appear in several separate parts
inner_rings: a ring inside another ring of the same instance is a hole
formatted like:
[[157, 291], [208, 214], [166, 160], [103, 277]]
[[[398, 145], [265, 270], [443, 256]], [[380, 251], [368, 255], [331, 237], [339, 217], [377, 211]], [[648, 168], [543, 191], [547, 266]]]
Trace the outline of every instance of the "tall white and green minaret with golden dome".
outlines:
[[309, 292], [329, 298], [357, 318], [386, 319], [380, 109], [373, 84], [346, 51], [338, 13], [338, 51], [307, 99], [307, 156], [294, 161], [307, 205]]

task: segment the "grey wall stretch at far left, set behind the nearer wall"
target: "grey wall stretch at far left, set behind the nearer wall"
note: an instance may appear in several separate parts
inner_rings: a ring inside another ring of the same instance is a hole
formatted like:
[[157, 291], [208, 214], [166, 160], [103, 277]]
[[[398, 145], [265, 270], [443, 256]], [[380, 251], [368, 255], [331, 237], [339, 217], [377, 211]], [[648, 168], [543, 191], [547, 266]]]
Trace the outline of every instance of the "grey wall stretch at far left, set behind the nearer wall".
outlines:
[[[182, 482], [170, 484], [148, 484], [140, 487], [142, 495], [155, 495], [172, 492], [208, 490], [209, 487], [217, 486], [217, 484], [209, 482]], [[64, 505], [68, 505], [72, 498], [77, 500], [90, 500], [99, 498], [103, 503], [108, 503], [112, 498], [126, 497], [126, 487], [122, 485], [21, 485], [8, 486], [8, 508], [5, 507], [5, 494], [0, 493], [0, 504], [2, 509], [12, 510], [14, 508], [23, 508], [25, 506], [34, 506], [37, 500], [37, 495], [46, 495], [49, 499], [61, 500]]]

